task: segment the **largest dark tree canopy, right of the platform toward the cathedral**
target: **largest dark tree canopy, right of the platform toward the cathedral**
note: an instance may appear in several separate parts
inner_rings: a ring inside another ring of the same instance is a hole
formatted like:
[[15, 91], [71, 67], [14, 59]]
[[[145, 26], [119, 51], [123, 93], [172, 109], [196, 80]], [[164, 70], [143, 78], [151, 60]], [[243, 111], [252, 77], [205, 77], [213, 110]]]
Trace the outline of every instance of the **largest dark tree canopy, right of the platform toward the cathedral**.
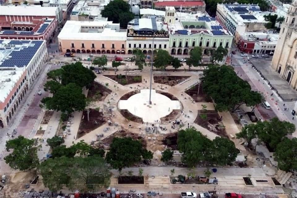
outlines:
[[262, 95], [252, 91], [250, 84], [239, 78], [231, 66], [209, 65], [203, 74], [203, 91], [214, 100], [218, 111], [237, 109], [242, 104], [255, 106], [263, 100]]

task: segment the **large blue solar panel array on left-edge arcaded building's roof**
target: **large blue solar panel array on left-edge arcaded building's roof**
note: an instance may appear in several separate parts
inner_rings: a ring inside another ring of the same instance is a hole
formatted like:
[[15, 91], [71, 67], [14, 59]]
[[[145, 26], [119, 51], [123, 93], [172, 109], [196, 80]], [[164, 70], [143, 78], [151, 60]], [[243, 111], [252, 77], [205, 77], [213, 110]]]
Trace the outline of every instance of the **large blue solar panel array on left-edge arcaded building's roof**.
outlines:
[[[2, 42], [2, 41], [1, 41]], [[30, 44], [29, 46], [24, 46], [23, 44]], [[31, 61], [43, 41], [10, 41], [9, 44], [21, 45], [17, 48], [12, 49], [12, 52], [9, 54], [8, 59], [5, 59], [0, 67], [26, 67]], [[6, 48], [8, 49], [8, 48]]]

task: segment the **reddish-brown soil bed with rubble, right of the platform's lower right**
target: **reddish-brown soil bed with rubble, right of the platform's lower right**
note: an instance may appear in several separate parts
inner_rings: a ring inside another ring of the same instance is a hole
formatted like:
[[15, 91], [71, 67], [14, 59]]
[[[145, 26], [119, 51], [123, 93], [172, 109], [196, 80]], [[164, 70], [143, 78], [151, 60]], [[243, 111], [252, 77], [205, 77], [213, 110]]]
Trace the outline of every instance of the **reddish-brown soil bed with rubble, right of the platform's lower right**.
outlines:
[[215, 134], [229, 138], [225, 127], [221, 123], [221, 118], [215, 110], [198, 110], [198, 115], [194, 123], [214, 132]]

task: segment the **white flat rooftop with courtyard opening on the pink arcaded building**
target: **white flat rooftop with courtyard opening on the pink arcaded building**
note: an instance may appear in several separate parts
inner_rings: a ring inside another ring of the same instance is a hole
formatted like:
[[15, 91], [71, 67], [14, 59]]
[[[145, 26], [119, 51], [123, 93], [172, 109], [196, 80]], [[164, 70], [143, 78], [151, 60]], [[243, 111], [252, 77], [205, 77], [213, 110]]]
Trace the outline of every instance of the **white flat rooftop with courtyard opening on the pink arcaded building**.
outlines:
[[[58, 35], [59, 39], [63, 40], [104, 40], [104, 41], [125, 41], [127, 38], [126, 32], [116, 32], [110, 28], [106, 28], [108, 25], [113, 24], [112, 21], [67, 21]], [[94, 27], [91, 31], [84, 27]], [[96, 28], [96, 27], [103, 27]], [[82, 32], [82, 29], [88, 32]]]

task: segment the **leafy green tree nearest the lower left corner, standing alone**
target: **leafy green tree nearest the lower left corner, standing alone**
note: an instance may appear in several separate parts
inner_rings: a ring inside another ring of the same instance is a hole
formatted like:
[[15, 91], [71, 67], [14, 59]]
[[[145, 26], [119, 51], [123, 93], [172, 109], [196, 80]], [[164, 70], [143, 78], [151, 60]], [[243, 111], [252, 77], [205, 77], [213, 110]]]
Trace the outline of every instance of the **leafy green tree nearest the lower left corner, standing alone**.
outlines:
[[37, 146], [34, 139], [29, 140], [24, 136], [18, 136], [15, 139], [6, 141], [6, 150], [12, 153], [4, 157], [6, 164], [13, 169], [30, 170], [39, 165], [37, 157]]

